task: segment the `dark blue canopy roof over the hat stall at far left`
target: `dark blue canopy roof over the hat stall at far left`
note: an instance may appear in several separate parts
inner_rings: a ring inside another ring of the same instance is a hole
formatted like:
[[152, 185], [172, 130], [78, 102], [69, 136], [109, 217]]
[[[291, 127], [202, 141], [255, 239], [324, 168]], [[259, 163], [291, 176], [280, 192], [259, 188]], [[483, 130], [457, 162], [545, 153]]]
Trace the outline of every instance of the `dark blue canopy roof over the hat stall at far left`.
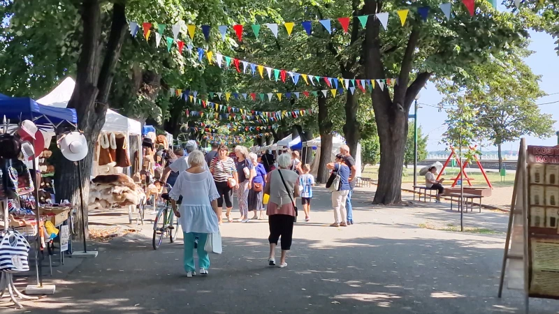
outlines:
[[3, 119], [3, 116], [12, 122], [20, 119], [31, 120], [38, 125], [50, 125], [50, 122], [59, 124], [63, 121], [78, 123], [75, 109], [39, 105], [28, 97], [9, 97], [0, 94], [0, 119]]

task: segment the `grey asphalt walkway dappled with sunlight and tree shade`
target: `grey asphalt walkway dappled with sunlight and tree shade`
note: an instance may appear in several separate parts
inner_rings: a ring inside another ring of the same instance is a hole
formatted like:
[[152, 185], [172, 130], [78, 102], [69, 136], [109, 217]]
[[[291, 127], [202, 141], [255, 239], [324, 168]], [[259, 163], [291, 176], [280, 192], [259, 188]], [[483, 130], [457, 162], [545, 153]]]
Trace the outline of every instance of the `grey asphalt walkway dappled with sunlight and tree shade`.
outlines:
[[[372, 192], [357, 190], [357, 224], [335, 228], [328, 227], [333, 222], [329, 193], [317, 188], [315, 196], [312, 221], [296, 225], [284, 269], [267, 267], [266, 220], [224, 224], [224, 253], [211, 256], [209, 276], [195, 278], [186, 278], [182, 270], [182, 241], [153, 251], [147, 226], [139, 233], [92, 244], [99, 257], [69, 271], [55, 271], [59, 292], [25, 303], [26, 310], [523, 313], [520, 292], [504, 290], [504, 297], [497, 298], [506, 214], [482, 210], [464, 215], [465, 226], [497, 234], [448, 232], [437, 229], [460, 225], [460, 215], [449, 211], [448, 203], [373, 207]], [[115, 212], [104, 221], [101, 216], [92, 220], [110, 225], [128, 218]], [[559, 313], [559, 301], [531, 299], [531, 308], [532, 313]]]

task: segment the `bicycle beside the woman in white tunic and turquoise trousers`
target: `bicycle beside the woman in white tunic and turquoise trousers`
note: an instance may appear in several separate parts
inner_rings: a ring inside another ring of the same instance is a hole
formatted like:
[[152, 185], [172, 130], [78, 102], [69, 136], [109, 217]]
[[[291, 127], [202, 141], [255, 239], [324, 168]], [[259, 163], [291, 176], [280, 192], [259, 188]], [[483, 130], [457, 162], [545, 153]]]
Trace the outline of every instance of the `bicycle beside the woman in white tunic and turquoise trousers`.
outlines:
[[152, 246], [154, 250], [161, 246], [166, 237], [169, 237], [170, 243], [173, 243], [177, 239], [180, 229], [179, 220], [175, 219], [175, 213], [171, 209], [168, 193], [162, 194], [161, 198], [165, 200], [165, 205], [157, 211], [153, 224]]

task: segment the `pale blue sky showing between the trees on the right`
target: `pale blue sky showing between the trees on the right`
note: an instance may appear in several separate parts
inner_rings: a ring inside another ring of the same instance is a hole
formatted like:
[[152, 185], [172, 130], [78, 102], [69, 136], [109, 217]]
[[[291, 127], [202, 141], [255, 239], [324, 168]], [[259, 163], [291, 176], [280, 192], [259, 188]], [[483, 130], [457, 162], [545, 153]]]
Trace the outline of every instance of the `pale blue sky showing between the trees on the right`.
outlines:
[[[556, 54], [556, 50], [554, 50], [554, 48], [557, 47], [555, 40], [547, 33], [537, 33], [535, 31], [530, 31], [530, 36], [532, 39], [530, 50], [535, 53], [525, 59], [525, 61], [535, 74], [543, 75], [542, 80], [539, 82], [539, 86], [546, 94], [558, 93], [559, 56]], [[418, 100], [420, 108], [417, 110], [417, 121], [418, 125], [421, 126], [423, 130], [423, 134], [429, 135], [427, 142], [428, 151], [438, 151], [446, 148], [446, 146], [440, 144], [440, 142], [442, 140], [442, 133], [446, 131], [446, 126], [441, 126], [441, 123], [447, 119], [447, 114], [444, 110], [438, 112], [436, 108], [441, 99], [442, 95], [439, 94], [435, 85], [428, 83], [426, 88], [421, 90], [421, 96]], [[536, 103], [550, 103], [556, 100], [559, 100], [559, 94], [539, 98]], [[421, 103], [428, 105], [422, 106]], [[431, 107], [430, 105], [435, 107]], [[543, 113], [553, 114], [553, 119], [558, 120], [555, 124], [555, 129], [559, 130], [559, 103], [541, 105], [540, 110], [542, 110]], [[410, 114], [412, 114], [412, 112], [410, 112]], [[528, 136], [526, 140], [528, 145], [555, 146], [557, 144], [556, 136], [544, 140]], [[497, 150], [496, 147], [486, 146], [486, 143], [475, 144], [484, 144], [484, 150]], [[518, 144], [520, 144], [520, 139], [518, 139], [517, 142], [503, 144], [502, 149], [506, 151], [507, 154], [509, 151], [516, 152], [518, 151]]]

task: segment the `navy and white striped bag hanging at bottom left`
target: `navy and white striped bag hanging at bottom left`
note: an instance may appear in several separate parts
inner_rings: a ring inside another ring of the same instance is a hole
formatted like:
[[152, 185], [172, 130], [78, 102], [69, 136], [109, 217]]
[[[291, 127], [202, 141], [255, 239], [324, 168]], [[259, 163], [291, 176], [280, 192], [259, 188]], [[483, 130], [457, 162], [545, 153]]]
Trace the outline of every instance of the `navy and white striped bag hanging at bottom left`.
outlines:
[[29, 243], [17, 231], [8, 231], [0, 241], [0, 271], [15, 273], [29, 271]]

